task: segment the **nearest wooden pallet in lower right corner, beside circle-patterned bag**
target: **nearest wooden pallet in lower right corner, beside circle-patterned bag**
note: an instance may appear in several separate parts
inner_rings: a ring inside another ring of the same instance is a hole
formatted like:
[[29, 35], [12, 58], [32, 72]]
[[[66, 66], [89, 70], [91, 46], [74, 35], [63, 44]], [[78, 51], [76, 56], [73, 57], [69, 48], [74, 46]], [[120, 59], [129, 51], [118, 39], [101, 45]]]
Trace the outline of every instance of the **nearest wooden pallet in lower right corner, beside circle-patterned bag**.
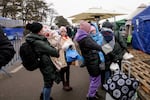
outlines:
[[[143, 61], [131, 62], [131, 65], [124, 64], [124, 71], [128, 71], [131, 66], [131, 76], [134, 76], [140, 81], [139, 94], [142, 98], [149, 100], [150, 96], [150, 66]], [[143, 100], [143, 99], [142, 99]]]

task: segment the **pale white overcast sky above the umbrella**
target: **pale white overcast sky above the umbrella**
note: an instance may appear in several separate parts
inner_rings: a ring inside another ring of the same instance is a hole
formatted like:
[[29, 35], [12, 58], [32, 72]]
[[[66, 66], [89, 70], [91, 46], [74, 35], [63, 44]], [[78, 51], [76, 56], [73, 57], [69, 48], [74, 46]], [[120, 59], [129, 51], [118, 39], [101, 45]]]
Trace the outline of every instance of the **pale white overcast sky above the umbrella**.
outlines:
[[68, 18], [69, 16], [81, 13], [92, 7], [102, 7], [106, 10], [122, 13], [132, 13], [140, 4], [150, 4], [150, 0], [45, 0], [53, 3], [59, 15]]

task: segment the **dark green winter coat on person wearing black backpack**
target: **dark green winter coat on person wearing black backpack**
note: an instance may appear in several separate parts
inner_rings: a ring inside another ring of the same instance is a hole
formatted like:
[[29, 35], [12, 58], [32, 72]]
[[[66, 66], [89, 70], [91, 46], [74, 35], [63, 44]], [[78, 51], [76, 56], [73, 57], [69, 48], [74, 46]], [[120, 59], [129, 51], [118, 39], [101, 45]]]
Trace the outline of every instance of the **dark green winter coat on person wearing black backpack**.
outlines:
[[59, 57], [58, 50], [52, 47], [48, 40], [41, 35], [31, 33], [26, 37], [26, 41], [32, 43], [35, 52], [40, 55], [40, 71], [43, 74], [45, 86], [50, 87], [53, 80], [59, 83], [61, 81], [60, 74], [50, 59], [50, 56]]

